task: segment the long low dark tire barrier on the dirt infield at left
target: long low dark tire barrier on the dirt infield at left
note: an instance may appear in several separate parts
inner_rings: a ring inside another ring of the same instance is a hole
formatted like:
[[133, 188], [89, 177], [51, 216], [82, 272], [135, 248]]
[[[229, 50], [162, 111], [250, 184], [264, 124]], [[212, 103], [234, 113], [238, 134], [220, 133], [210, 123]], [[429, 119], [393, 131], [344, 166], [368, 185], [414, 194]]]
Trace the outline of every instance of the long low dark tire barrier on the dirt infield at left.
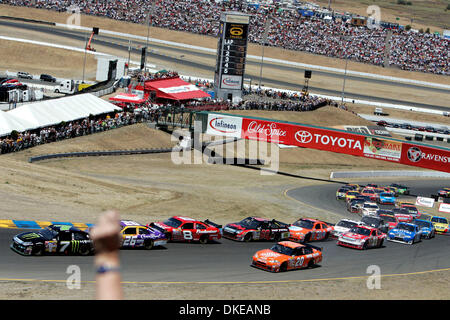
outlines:
[[28, 159], [28, 162], [33, 163], [33, 162], [42, 161], [42, 160], [59, 159], [59, 158], [73, 158], [73, 157], [123, 156], [123, 155], [136, 155], [136, 154], [168, 153], [168, 152], [172, 152], [172, 150], [173, 150], [173, 148], [54, 153], [54, 154], [45, 154], [45, 155], [40, 155], [40, 156], [36, 156], [36, 157], [30, 157]]

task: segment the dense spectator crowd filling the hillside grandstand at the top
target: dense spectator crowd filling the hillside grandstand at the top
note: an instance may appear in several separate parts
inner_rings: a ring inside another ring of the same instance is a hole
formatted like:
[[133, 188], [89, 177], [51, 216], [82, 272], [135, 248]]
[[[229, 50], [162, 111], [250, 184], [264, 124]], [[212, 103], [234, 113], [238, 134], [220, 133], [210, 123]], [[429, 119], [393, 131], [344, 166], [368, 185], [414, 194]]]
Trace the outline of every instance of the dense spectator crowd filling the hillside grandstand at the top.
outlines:
[[[217, 36], [222, 11], [241, 11], [251, 15], [250, 42], [261, 43], [270, 17], [267, 38], [270, 46], [373, 65], [384, 64], [388, 33], [387, 28], [354, 26], [341, 19], [303, 17], [297, 10], [243, 6], [244, 1], [235, 0], [0, 0], [0, 3], [59, 12], [79, 8], [82, 14], [140, 24], [146, 23], [151, 12], [151, 24], [155, 27], [209, 36]], [[449, 75], [449, 42], [439, 35], [394, 29], [389, 64], [403, 70]]]

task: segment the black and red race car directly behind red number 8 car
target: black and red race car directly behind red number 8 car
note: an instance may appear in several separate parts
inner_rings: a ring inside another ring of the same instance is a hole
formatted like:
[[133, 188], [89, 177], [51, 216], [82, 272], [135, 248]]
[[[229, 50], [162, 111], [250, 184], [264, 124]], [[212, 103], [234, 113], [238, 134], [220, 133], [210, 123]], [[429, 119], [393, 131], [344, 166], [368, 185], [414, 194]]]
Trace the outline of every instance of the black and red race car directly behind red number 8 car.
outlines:
[[227, 224], [222, 236], [237, 241], [280, 241], [289, 237], [289, 224], [259, 217], [247, 217], [239, 222]]

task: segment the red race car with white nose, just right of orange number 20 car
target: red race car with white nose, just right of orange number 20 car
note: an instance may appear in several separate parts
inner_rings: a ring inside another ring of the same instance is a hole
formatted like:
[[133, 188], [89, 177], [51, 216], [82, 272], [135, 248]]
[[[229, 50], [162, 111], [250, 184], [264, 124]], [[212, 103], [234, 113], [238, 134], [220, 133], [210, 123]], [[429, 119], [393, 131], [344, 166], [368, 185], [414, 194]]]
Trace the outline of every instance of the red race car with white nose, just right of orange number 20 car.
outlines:
[[356, 226], [338, 238], [337, 245], [354, 249], [381, 248], [386, 234], [377, 228]]

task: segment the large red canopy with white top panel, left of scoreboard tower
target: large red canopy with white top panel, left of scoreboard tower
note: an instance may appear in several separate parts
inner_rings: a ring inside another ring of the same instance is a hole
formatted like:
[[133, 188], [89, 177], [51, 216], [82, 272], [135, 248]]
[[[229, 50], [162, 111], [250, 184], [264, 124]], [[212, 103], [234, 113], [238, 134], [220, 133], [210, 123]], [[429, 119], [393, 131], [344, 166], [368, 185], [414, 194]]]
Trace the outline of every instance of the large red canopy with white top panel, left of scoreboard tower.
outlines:
[[145, 91], [156, 91], [157, 98], [170, 100], [210, 98], [209, 94], [179, 77], [148, 80], [145, 82]]

